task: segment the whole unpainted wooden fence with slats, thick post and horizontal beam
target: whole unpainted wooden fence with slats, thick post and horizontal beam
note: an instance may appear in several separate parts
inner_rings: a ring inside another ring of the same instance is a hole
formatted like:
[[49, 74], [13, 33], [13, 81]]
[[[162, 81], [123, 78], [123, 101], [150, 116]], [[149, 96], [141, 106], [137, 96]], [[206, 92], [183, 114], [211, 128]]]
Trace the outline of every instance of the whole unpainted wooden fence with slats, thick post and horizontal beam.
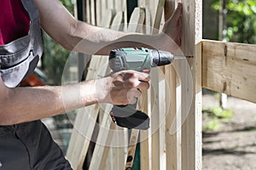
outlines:
[[[151, 72], [152, 88], [143, 92], [140, 105], [151, 117], [150, 128], [140, 132], [142, 170], [202, 168], [201, 88], [256, 102], [256, 46], [202, 40], [201, 0], [139, 0], [129, 24], [126, 0], [84, 0], [84, 20], [119, 31], [155, 34], [178, 2], [183, 3], [181, 49], [193, 58]], [[108, 72], [108, 57], [92, 56], [86, 79]], [[74, 169], [82, 169], [93, 133], [97, 138], [90, 169], [125, 169], [130, 132], [113, 124], [110, 109], [111, 105], [90, 105], [79, 110], [67, 149]]]

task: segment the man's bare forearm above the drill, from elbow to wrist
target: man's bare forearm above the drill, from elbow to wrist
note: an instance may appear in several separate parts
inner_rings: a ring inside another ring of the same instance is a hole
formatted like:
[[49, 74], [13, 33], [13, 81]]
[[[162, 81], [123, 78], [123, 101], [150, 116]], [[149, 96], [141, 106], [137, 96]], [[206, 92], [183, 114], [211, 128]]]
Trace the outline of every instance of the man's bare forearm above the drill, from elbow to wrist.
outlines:
[[70, 35], [67, 37], [67, 41], [72, 45], [69, 50], [102, 55], [108, 55], [113, 48], [160, 48], [159, 39], [160, 35], [152, 36], [114, 31], [90, 26], [81, 21], [78, 21], [78, 24], [71, 29]]

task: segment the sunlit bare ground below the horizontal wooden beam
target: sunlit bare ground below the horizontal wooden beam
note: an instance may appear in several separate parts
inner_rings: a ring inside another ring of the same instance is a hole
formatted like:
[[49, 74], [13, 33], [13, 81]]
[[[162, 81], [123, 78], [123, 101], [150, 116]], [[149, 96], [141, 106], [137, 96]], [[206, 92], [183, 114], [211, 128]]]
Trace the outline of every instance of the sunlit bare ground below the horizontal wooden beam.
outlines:
[[[211, 94], [203, 95], [203, 107], [218, 105]], [[256, 169], [256, 104], [228, 98], [234, 116], [222, 121], [218, 130], [203, 133], [204, 170]], [[203, 116], [203, 124], [206, 124]]]

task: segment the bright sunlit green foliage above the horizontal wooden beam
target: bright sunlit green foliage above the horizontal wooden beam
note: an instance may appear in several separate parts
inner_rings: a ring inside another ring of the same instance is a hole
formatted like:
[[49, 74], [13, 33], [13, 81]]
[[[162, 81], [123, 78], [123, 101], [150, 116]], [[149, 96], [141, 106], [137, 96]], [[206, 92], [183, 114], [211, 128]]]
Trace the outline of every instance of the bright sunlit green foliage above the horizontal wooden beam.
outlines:
[[231, 42], [256, 43], [256, 1], [255, 0], [215, 0], [212, 8], [220, 8], [219, 1], [225, 2], [226, 34]]

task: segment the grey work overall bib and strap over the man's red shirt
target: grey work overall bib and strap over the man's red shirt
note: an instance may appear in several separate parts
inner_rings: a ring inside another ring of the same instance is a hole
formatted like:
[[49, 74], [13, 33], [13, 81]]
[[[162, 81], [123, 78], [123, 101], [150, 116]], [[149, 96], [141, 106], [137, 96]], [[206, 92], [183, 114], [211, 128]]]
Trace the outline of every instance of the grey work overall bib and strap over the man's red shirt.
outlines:
[[29, 76], [43, 54], [38, 9], [32, 0], [21, 0], [30, 18], [28, 35], [0, 45], [0, 74], [3, 83], [15, 88]]

